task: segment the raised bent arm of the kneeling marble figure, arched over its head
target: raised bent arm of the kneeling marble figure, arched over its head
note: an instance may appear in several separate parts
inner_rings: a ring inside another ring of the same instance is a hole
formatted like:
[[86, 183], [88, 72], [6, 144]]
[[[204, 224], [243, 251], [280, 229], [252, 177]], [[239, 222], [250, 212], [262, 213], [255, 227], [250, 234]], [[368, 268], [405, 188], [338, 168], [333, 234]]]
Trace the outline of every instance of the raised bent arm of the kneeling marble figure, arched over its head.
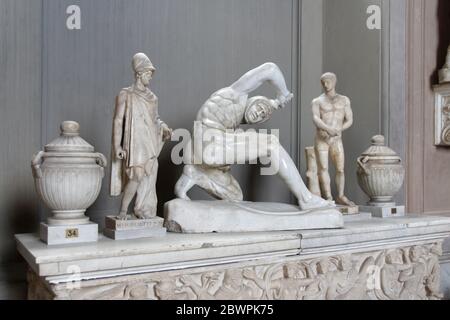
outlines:
[[277, 89], [277, 99], [282, 106], [289, 102], [293, 95], [288, 90], [286, 80], [280, 68], [272, 62], [264, 63], [248, 71], [231, 88], [242, 94], [249, 94], [258, 89], [264, 82], [271, 83]]

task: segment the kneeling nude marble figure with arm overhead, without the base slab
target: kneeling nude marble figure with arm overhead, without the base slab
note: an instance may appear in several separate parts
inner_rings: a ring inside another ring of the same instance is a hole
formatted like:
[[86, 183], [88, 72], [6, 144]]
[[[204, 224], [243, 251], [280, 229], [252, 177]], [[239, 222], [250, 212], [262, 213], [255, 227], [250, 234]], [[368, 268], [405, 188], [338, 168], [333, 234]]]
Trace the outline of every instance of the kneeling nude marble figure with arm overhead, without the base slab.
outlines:
[[[249, 99], [249, 94], [266, 82], [275, 87], [277, 98]], [[243, 123], [256, 124], [268, 120], [274, 110], [283, 108], [292, 97], [281, 70], [274, 63], [265, 63], [247, 72], [229, 87], [214, 93], [198, 112], [196, 123], [208, 134], [200, 137], [203, 140], [202, 150], [195, 150], [196, 141], [187, 148], [192, 150], [192, 154], [185, 154], [185, 163], [188, 161], [191, 164], [184, 167], [183, 175], [176, 184], [177, 197], [189, 200], [187, 192], [198, 185], [218, 199], [242, 201], [242, 190], [230, 174], [230, 166], [260, 159], [279, 165], [278, 175], [296, 196], [301, 209], [329, 207], [328, 201], [311, 194], [307, 189], [295, 163], [276, 136], [256, 131], [237, 131]], [[223, 156], [236, 149], [242, 150], [243, 146], [248, 152], [237, 152], [233, 159]], [[205, 150], [208, 152], [203, 152]]]

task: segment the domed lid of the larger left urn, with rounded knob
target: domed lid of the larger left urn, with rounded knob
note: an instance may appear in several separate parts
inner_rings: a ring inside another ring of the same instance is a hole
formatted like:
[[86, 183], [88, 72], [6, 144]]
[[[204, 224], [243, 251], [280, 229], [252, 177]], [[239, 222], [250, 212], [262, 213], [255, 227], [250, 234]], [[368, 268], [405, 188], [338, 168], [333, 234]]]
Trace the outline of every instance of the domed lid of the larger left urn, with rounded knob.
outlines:
[[94, 147], [80, 137], [80, 125], [75, 121], [61, 124], [61, 135], [45, 146], [46, 152], [94, 152]]

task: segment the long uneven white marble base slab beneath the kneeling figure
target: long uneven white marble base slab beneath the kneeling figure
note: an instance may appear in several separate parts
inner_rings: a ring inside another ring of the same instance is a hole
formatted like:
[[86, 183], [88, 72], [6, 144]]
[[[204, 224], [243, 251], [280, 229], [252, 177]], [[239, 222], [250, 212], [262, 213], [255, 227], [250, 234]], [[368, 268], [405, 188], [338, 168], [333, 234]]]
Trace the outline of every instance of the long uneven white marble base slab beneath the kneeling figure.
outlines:
[[166, 227], [177, 233], [258, 232], [336, 229], [344, 226], [335, 208], [299, 211], [282, 203], [186, 201], [164, 207]]

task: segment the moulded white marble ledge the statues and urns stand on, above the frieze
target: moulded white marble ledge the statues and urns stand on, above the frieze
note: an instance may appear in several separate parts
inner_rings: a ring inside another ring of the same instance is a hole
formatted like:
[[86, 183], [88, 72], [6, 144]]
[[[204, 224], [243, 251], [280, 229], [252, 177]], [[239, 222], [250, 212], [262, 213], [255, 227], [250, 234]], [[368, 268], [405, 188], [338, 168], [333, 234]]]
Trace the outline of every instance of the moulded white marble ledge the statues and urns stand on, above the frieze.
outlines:
[[175, 234], [157, 239], [48, 247], [34, 234], [16, 235], [30, 268], [49, 283], [180, 270], [283, 257], [314, 258], [442, 241], [450, 218], [407, 216], [346, 223], [344, 229], [237, 234]]

